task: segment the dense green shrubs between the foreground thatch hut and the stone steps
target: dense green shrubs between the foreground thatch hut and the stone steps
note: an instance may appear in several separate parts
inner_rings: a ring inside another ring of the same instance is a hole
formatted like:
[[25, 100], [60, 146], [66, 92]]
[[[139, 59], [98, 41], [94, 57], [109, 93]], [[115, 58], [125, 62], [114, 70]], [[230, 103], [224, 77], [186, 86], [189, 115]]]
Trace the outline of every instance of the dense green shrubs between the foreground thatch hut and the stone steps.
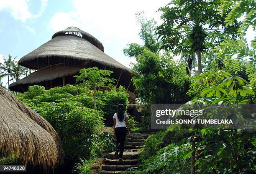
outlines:
[[[105, 147], [112, 146], [102, 139], [100, 129], [103, 120], [113, 122], [113, 114], [119, 102], [127, 107], [128, 94], [120, 88], [96, 92], [97, 109], [90, 89], [66, 85], [46, 90], [43, 86], [31, 86], [28, 92], [17, 97], [43, 116], [62, 139], [66, 157], [87, 159], [102, 154]], [[115, 102], [114, 102], [115, 101]], [[111, 118], [111, 121], [110, 121]]]

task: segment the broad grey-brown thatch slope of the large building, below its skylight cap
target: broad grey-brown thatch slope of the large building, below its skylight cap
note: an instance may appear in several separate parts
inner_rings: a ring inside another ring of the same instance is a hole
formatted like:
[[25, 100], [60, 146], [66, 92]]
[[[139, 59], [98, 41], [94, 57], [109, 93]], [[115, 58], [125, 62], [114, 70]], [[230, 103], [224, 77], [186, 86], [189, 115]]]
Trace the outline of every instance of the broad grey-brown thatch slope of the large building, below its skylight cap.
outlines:
[[[106, 55], [102, 50], [99, 49], [99, 47], [96, 47], [94, 44], [92, 44], [94, 42], [88, 41], [90, 40], [87, 38], [89, 37], [89, 34], [84, 38], [84, 35], [83, 37], [79, 37], [77, 34], [64, 34], [65, 32], [66, 31], [63, 30], [61, 32], [55, 33], [51, 40], [22, 57], [18, 61], [18, 64], [24, 67], [38, 69], [38, 66], [35, 65], [32, 60], [40, 59], [47, 61], [49, 58], [51, 61], [54, 59], [65, 58], [65, 60], [92, 60], [93, 62], [97, 62], [101, 65], [106, 65], [108, 67], [114, 67], [122, 69], [126, 72], [131, 72], [129, 68], [120, 64], [112, 57]], [[83, 31], [81, 30], [80, 32]], [[90, 35], [90, 38], [95, 37]]]

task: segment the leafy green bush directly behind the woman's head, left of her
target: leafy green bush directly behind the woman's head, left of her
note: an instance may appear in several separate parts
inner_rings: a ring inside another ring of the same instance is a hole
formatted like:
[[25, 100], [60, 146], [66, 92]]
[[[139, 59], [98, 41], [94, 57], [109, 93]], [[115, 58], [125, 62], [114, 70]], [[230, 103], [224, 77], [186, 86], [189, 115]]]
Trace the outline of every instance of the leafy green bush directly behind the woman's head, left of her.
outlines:
[[113, 115], [117, 112], [117, 105], [123, 104], [125, 111], [128, 105], [128, 94], [126, 92], [117, 92], [115, 89], [110, 92], [106, 91], [105, 96], [107, 97], [103, 111], [105, 112], [104, 118], [107, 126], [113, 126]]

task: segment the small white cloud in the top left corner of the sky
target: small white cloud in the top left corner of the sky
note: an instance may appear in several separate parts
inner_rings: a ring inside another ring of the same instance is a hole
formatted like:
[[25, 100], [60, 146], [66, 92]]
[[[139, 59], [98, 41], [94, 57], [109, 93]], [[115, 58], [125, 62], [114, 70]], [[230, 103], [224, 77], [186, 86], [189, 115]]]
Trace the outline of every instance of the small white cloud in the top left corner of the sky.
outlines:
[[39, 12], [33, 15], [29, 11], [29, 1], [30, 0], [0, 0], [0, 11], [6, 10], [10, 12], [14, 19], [26, 22], [28, 19], [41, 16], [48, 4], [48, 0], [41, 0]]

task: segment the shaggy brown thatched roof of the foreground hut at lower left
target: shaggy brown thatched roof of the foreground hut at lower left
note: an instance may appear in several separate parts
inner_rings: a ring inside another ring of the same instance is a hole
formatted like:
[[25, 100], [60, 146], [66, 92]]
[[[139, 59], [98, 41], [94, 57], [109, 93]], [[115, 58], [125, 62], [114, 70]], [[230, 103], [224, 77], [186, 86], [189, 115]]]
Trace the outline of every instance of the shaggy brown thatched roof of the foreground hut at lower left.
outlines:
[[23, 164], [50, 169], [63, 162], [54, 128], [23, 102], [0, 87], [0, 154], [20, 155]]

